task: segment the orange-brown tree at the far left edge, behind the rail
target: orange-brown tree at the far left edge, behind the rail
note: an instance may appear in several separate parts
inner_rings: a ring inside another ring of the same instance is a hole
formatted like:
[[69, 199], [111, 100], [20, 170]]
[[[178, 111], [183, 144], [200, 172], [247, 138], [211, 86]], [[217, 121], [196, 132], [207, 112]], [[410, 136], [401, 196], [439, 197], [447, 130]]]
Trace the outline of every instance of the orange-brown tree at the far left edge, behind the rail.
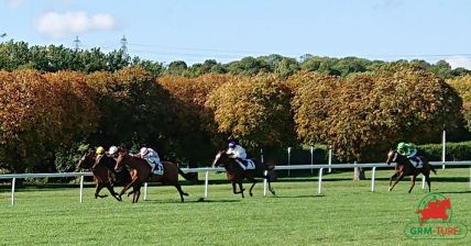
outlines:
[[81, 112], [96, 112], [95, 104], [74, 76], [63, 82], [34, 70], [0, 71], [0, 163], [7, 168], [22, 172], [94, 131], [94, 119]]

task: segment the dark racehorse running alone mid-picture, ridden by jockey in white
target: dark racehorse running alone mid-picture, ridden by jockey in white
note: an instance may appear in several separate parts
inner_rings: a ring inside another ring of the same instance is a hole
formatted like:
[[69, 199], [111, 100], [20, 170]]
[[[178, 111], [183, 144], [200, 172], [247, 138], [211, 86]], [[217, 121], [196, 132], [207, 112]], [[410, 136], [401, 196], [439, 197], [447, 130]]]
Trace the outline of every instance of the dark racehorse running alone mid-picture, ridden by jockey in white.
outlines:
[[[232, 183], [232, 192], [234, 194], [241, 193], [242, 198], [243, 189], [242, 182], [244, 179], [248, 179], [252, 182], [252, 186], [250, 187], [249, 194], [250, 197], [253, 195], [252, 189], [256, 183], [255, 178], [263, 178], [267, 180], [269, 183], [269, 190], [272, 192], [272, 194], [275, 194], [275, 190], [272, 189], [271, 181], [272, 181], [272, 175], [265, 175], [265, 171], [272, 171], [274, 166], [269, 164], [262, 164], [258, 160], [253, 160], [255, 164], [255, 169], [249, 169], [244, 170], [233, 158], [230, 158], [229, 155], [226, 153], [226, 150], [220, 150], [212, 161], [212, 167], [219, 167], [223, 166], [228, 176], [228, 180]], [[239, 191], [236, 189], [236, 183], [239, 185]]]

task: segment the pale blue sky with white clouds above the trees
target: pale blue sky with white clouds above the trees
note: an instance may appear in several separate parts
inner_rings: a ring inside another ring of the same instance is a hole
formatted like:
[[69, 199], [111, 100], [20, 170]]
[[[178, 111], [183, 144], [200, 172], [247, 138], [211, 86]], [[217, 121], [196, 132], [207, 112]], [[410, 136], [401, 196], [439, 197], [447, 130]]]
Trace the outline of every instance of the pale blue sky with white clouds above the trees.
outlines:
[[165, 64], [311, 54], [471, 69], [470, 27], [470, 0], [0, 0], [0, 42], [110, 52], [125, 37]]

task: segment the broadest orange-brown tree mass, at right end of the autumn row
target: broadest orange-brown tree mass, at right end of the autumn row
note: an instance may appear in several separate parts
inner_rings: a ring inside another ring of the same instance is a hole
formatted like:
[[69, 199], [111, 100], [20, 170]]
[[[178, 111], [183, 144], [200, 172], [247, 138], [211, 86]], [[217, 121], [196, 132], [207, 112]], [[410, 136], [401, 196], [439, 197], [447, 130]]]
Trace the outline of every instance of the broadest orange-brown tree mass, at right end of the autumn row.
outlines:
[[456, 91], [424, 70], [358, 74], [341, 82], [314, 75], [296, 79], [298, 137], [332, 145], [343, 160], [382, 157], [398, 141], [437, 141], [443, 124], [451, 128], [461, 118]]

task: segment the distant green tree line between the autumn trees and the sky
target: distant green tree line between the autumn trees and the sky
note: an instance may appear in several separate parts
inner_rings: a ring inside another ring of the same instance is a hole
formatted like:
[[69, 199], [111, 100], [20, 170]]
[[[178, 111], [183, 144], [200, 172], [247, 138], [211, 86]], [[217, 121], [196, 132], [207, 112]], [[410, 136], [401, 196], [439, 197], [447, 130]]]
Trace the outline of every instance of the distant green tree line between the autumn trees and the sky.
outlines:
[[[25, 42], [13, 41], [0, 43], [0, 69], [9, 71], [28, 68], [43, 72], [74, 70], [90, 74], [117, 71], [128, 66], [140, 66], [153, 76], [177, 75], [193, 78], [206, 74], [255, 76], [261, 72], [287, 78], [298, 71], [318, 71], [347, 77], [354, 72], [374, 71], [387, 67], [390, 64], [383, 60], [369, 60], [358, 57], [332, 58], [306, 54], [299, 59], [295, 59], [273, 54], [260, 57], [249, 56], [227, 64], [207, 59], [190, 66], [183, 60], [175, 60], [165, 65], [141, 59], [136, 56], [131, 57], [121, 49], [103, 53], [100, 48], [72, 49], [63, 45], [30, 46]], [[442, 79], [471, 74], [464, 68], [451, 69], [451, 66], [445, 60], [439, 60], [436, 64], [420, 59], [396, 60], [393, 64], [418, 67]]]

